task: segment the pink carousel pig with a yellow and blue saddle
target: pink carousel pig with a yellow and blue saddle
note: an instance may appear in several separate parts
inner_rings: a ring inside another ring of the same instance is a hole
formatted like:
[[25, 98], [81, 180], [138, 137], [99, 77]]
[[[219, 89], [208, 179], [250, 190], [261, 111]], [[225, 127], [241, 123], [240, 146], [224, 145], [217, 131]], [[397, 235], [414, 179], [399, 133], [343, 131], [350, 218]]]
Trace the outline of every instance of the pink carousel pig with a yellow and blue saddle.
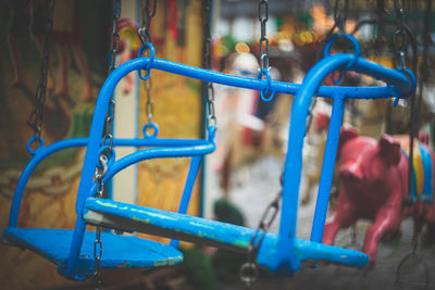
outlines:
[[[422, 139], [422, 138], [420, 138]], [[383, 135], [380, 140], [359, 136], [353, 128], [341, 130], [338, 144], [340, 181], [337, 206], [325, 225], [323, 242], [334, 244], [340, 228], [358, 219], [371, 219], [362, 251], [370, 265], [376, 260], [377, 244], [386, 234], [401, 234], [400, 224], [407, 216], [427, 225], [431, 242], [435, 242], [434, 152], [427, 138], [414, 142], [414, 178], [411, 204], [408, 194], [409, 139]]]

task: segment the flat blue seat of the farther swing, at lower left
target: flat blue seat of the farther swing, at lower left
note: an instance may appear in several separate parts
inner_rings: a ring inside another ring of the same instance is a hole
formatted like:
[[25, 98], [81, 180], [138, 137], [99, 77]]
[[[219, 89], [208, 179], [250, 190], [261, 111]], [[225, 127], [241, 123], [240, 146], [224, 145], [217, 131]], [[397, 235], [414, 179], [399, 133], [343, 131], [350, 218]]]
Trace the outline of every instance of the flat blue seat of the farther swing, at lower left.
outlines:
[[[3, 240], [28, 249], [59, 267], [65, 267], [73, 232], [72, 229], [8, 227], [3, 231]], [[85, 232], [76, 268], [76, 274], [82, 277], [94, 274], [95, 239], [95, 231]], [[178, 250], [160, 242], [110, 232], [101, 232], [101, 240], [104, 254], [100, 266], [103, 268], [153, 268], [183, 262], [183, 254]]]

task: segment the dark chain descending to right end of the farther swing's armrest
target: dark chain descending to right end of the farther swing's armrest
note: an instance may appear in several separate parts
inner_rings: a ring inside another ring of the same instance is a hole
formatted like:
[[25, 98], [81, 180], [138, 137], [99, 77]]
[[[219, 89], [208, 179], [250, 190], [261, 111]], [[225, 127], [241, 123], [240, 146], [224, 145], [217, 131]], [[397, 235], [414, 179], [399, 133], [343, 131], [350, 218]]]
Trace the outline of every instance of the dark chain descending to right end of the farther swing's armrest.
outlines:
[[[211, 26], [210, 26], [210, 0], [206, 0], [204, 3], [204, 67], [207, 70], [212, 70], [212, 59], [211, 59]], [[216, 126], [217, 119], [214, 112], [214, 88], [213, 84], [206, 83], [206, 97], [207, 97], [207, 127]]]

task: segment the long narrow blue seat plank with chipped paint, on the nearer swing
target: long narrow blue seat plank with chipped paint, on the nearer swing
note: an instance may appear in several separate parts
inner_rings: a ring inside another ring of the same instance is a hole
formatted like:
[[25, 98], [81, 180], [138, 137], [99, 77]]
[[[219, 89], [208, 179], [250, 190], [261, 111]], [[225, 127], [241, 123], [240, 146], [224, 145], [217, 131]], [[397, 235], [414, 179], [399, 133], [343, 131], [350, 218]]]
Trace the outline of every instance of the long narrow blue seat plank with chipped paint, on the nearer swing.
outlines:
[[[217, 220], [189, 216], [112, 200], [89, 198], [85, 203], [84, 219], [92, 225], [139, 231], [150, 235], [247, 252], [256, 229]], [[258, 263], [269, 267], [271, 256], [277, 253], [278, 235], [266, 232]], [[315, 260], [352, 266], [366, 265], [366, 254], [349, 249], [295, 239], [295, 251], [300, 261]]]

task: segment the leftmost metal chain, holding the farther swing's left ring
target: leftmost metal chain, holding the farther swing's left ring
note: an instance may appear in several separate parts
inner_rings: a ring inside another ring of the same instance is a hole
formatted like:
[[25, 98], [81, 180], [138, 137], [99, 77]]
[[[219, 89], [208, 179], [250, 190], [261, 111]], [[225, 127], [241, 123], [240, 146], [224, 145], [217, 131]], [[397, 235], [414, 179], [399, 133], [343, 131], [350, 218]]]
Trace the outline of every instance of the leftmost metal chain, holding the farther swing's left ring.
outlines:
[[44, 123], [44, 104], [46, 102], [46, 91], [48, 83], [48, 64], [50, 58], [51, 31], [53, 27], [53, 8], [54, 1], [51, 0], [48, 4], [49, 13], [47, 16], [42, 59], [40, 62], [40, 79], [35, 92], [35, 109], [30, 113], [28, 121], [26, 122], [27, 125], [34, 130], [34, 140], [38, 143], [38, 147], [42, 142], [41, 129]]

